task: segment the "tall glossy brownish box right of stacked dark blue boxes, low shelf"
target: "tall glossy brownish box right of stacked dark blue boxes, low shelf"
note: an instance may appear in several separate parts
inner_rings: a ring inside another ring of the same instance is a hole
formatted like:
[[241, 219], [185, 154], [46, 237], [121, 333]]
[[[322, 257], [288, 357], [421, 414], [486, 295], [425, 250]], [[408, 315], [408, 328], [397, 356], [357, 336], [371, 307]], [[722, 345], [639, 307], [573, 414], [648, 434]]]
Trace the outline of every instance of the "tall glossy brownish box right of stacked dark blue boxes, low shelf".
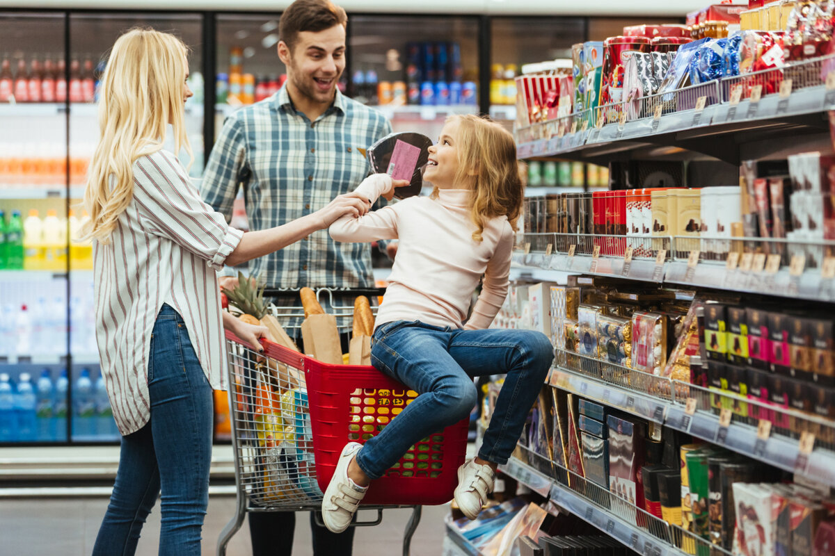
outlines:
[[644, 464], [643, 423], [610, 415], [609, 428], [609, 489], [639, 508], [644, 507], [644, 489], [638, 473]]

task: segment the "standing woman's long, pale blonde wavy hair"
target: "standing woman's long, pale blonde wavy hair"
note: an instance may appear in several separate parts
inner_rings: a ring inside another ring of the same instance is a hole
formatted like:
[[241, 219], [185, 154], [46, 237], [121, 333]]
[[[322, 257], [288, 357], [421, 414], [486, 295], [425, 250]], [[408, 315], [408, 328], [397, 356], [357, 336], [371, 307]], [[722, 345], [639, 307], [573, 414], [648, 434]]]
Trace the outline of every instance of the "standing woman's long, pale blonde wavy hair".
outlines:
[[185, 147], [191, 158], [183, 109], [187, 55], [179, 38], [150, 28], [134, 28], [116, 39], [99, 88], [101, 137], [84, 190], [90, 214], [85, 237], [108, 243], [134, 196], [134, 161], [163, 147], [168, 123], [175, 153]]

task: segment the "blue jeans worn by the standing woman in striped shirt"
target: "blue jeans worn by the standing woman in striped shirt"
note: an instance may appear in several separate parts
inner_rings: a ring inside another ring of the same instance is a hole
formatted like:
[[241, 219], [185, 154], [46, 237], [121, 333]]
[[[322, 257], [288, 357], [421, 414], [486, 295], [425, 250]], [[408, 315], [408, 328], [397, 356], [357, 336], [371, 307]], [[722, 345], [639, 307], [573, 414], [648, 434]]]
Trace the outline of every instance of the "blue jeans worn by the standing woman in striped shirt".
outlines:
[[151, 336], [148, 389], [150, 420], [122, 437], [119, 471], [94, 556], [135, 553], [160, 488], [160, 556], [200, 555], [209, 504], [212, 389], [183, 319], [167, 304]]

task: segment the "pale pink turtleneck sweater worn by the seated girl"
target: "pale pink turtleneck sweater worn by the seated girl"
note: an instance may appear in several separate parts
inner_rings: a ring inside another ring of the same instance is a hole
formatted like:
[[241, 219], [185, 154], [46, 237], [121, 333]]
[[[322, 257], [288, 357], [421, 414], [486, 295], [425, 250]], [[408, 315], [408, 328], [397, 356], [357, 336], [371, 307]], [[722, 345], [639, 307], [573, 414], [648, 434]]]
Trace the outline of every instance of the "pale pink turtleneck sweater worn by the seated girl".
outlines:
[[[392, 188], [385, 174], [374, 174], [357, 192], [374, 203]], [[341, 242], [398, 239], [397, 257], [377, 313], [376, 326], [397, 320], [419, 320], [440, 327], [462, 328], [478, 282], [483, 287], [466, 326], [488, 328], [508, 294], [514, 231], [507, 217], [492, 218], [483, 241], [473, 241], [466, 189], [442, 189], [438, 199], [412, 197], [331, 224], [331, 238]]]

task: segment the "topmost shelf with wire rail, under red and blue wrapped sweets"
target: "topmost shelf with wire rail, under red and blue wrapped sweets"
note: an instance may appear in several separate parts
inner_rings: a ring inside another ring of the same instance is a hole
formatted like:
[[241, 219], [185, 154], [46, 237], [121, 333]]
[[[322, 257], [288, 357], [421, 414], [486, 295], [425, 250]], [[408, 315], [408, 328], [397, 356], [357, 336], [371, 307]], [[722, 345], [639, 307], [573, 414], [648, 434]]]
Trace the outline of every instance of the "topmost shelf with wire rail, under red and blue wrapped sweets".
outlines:
[[[835, 93], [827, 90], [820, 76], [822, 64], [831, 60], [827, 57], [792, 64], [783, 68], [779, 77], [771, 76], [781, 81], [784, 74], [792, 78], [792, 92], [786, 96], [763, 94], [757, 102], [731, 98], [732, 88], [746, 84], [741, 79], [762, 78], [766, 82], [769, 78], [746, 75], [641, 98], [638, 103], [608, 105], [534, 123], [516, 131], [518, 157], [559, 157], [592, 163], [608, 163], [618, 157], [708, 157], [738, 164], [740, 145], [748, 144], [746, 158], [766, 158], [785, 148], [781, 142], [769, 139], [787, 133], [793, 138], [826, 134], [825, 112], [835, 108]], [[762, 90], [765, 93], [766, 89]], [[698, 98], [706, 99], [701, 110], [695, 108]], [[655, 108], [659, 107], [660, 117], [655, 118]], [[621, 113], [625, 113], [624, 120]], [[598, 128], [599, 121], [605, 125]], [[574, 127], [573, 123], [578, 125]], [[572, 128], [576, 133], [570, 133]]]

